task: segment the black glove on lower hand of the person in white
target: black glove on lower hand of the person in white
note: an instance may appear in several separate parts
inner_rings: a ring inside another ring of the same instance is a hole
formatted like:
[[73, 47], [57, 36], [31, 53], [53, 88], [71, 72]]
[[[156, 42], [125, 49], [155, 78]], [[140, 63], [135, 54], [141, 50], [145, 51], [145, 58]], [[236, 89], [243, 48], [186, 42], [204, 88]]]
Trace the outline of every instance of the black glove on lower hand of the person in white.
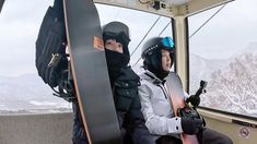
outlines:
[[199, 118], [182, 118], [182, 129], [186, 134], [197, 134], [203, 128], [203, 120]]

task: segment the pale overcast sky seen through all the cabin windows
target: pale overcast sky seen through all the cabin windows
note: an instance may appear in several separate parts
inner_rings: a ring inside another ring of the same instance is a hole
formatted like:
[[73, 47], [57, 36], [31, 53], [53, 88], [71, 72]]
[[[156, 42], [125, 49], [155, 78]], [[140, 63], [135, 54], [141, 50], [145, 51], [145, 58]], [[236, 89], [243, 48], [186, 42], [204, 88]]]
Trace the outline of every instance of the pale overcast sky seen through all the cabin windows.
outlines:
[[[36, 73], [35, 41], [43, 16], [52, 0], [7, 0], [0, 14], [0, 75]], [[210, 59], [225, 59], [257, 41], [257, 0], [236, 0], [227, 4], [191, 39], [191, 52]], [[101, 23], [121, 21], [131, 29], [130, 52], [159, 17], [154, 14], [97, 5]], [[195, 32], [219, 8], [189, 17]], [[162, 17], [148, 37], [156, 36], [168, 23]], [[171, 35], [168, 27], [162, 36]], [[209, 48], [213, 50], [209, 50]], [[222, 51], [222, 52], [221, 52]], [[137, 51], [138, 57], [141, 50]], [[131, 63], [137, 59], [131, 58]]]

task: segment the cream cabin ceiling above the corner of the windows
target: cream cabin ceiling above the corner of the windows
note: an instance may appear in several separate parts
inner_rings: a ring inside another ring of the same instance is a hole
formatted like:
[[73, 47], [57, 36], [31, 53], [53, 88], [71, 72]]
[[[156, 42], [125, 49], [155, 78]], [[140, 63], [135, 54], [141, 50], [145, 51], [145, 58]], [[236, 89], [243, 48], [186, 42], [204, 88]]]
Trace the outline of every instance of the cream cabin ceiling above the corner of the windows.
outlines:
[[168, 17], [175, 17], [175, 16], [186, 17], [196, 14], [198, 12], [231, 2], [233, 0], [93, 0], [93, 1], [102, 4], [145, 11]]

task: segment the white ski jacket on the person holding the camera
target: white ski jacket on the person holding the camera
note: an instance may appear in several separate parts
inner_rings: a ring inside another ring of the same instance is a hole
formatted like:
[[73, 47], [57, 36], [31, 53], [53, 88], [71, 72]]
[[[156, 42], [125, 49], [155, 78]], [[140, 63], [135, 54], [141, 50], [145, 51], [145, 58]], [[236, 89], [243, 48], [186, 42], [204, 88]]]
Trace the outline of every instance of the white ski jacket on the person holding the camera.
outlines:
[[[175, 117], [165, 83], [150, 71], [140, 74], [139, 96], [145, 125], [151, 134], [178, 136], [182, 130], [179, 117]], [[185, 95], [185, 99], [188, 95]]]

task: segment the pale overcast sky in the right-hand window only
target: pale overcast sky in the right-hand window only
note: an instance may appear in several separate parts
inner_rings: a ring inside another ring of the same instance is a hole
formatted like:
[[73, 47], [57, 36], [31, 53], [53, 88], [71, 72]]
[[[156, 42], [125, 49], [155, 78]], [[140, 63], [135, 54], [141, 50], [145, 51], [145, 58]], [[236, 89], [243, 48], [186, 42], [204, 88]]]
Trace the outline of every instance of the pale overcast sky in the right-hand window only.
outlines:
[[[191, 52], [205, 58], [225, 59], [257, 41], [257, 0], [235, 0], [224, 7], [190, 39]], [[195, 32], [220, 8], [189, 17]]]

